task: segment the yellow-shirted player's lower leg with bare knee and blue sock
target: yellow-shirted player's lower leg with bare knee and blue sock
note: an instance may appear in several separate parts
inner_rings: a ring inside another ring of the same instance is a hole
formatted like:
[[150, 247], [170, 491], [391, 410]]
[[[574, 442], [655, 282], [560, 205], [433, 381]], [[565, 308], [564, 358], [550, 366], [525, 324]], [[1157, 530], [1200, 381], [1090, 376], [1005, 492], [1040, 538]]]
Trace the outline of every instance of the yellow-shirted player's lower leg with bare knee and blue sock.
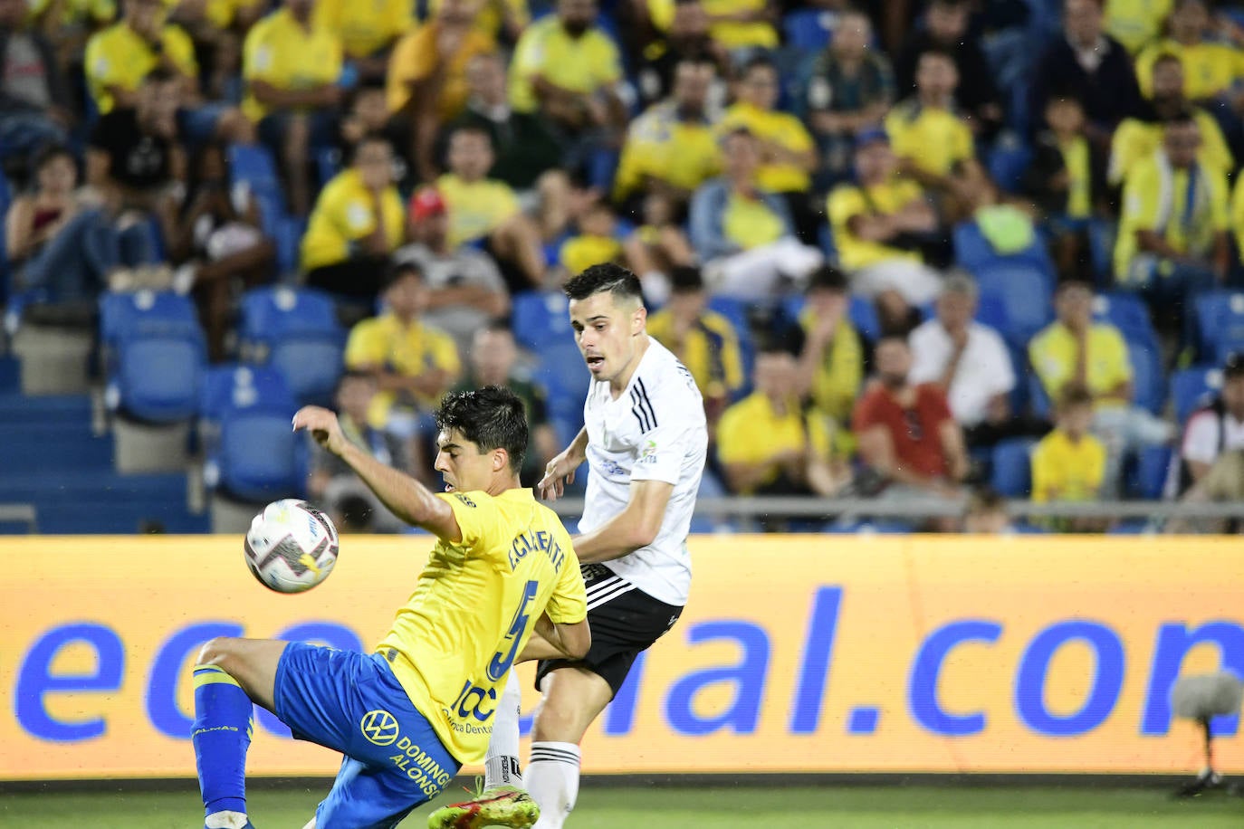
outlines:
[[245, 829], [246, 751], [253, 700], [271, 707], [276, 666], [287, 643], [213, 639], [194, 666], [194, 743], [204, 827]]

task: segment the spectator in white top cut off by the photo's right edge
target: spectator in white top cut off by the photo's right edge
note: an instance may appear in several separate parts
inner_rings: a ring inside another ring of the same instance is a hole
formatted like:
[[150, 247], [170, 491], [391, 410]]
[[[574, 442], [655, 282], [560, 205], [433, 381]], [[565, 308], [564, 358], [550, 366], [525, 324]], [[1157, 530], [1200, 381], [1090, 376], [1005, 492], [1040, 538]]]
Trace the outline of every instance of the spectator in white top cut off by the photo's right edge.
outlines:
[[1244, 353], [1227, 358], [1222, 393], [1188, 418], [1167, 495], [1186, 492], [1233, 449], [1244, 449]]

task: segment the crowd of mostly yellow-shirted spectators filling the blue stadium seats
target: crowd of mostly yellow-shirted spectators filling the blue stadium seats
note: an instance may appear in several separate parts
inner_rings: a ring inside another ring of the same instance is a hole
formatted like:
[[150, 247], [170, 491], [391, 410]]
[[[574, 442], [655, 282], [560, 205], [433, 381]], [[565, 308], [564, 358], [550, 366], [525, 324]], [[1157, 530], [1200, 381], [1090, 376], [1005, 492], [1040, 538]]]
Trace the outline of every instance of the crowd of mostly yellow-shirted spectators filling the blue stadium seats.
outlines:
[[[615, 261], [728, 492], [1244, 495], [1235, 4], [0, 0], [0, 72], [20, 324], [164, 287], [223, 363], [245, 291], [321, 290], [343, 426], [412, 474], [508, 383], [539, 477], [557, 287]], [[322, 454], [307, 491], [392, 528]]]

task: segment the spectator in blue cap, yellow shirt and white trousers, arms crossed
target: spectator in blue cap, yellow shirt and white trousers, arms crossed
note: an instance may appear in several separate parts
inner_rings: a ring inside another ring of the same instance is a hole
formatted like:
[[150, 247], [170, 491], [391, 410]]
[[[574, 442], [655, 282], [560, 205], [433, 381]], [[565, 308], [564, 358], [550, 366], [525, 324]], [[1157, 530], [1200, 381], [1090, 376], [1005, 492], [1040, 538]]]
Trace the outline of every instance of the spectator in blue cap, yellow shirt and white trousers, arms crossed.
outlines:
[[942, 288], [919, 250], [938, 227], [937, 214], [921, 185], [898, 174], [884, 131], [860, 133], [855, 159], [856, 184], [838, 185], [826, 204], [838, 263], [852, 291], [877, 302], [882, 326], [901, 329]]

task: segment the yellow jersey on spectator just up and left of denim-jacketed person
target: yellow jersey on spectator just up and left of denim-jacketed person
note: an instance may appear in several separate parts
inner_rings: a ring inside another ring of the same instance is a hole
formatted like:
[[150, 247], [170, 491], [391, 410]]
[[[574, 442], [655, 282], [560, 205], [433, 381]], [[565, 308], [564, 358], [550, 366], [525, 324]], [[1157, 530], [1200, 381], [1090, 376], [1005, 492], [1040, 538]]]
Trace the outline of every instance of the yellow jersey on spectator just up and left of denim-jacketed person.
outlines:
[[722, 172], [718, 135], [708, 121], [683, 121], [672, 102], [657, 103], [627, 129], [613, 179], [613, 198], [622, 200], [653, 178], [693, 191]]

